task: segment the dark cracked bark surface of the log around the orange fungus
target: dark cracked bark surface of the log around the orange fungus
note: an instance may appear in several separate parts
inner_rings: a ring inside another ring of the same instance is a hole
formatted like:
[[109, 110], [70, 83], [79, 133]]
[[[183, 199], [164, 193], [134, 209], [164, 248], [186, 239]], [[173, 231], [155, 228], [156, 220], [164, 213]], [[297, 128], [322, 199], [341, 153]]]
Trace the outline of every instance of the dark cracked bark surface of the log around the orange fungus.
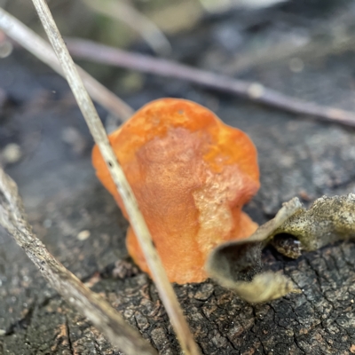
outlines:
[[[191, 38], [184, 38], [177, 38], [176, 44], [185, 43], [188, 58]], [[0, 66], [5, 93], [0, 150], [10, 142], [21, 147], [21, 161], [8, 164], [6, 171], [20, 186], [31, 224], [51, 253], [106, 296], [161, 354], [179, 354], [154, 285], [126, 259], [127, 223], [94, 176], [92, 141], [66, 83], [21, 56], [23, 52], [15, 53]], [[299, 98], [354, 110], [354, 59], [353, 53], [345, 52], [309, 61], [297, 74], [289, 71], [285, 60], [251, 70], [248, 78]], [[354, 130], [165, 79], [149, 78], [141, 93], [129, 99], [138, 108], [162, 96], [215, 107], [221, 119], [250, 135], [259, 152], [262, 187], [247, 210], [259, 223], [293, 196], [311, 202], [323, 194], [355, 192]], [[67, 143], [68, 130], [77, 135], [73, 143]], [[265, 267], [284, 272], [302, 290], [269, 304], [245, 304], [210, 281], [175, 289], [203, 354], [351, 354], [354, 256], [353, 242], [305, 253], [296, 261], [272, 248], [264, 250]], [[122, 353], [46, 285], [4, 231], [0, 297], [0, 353]]]

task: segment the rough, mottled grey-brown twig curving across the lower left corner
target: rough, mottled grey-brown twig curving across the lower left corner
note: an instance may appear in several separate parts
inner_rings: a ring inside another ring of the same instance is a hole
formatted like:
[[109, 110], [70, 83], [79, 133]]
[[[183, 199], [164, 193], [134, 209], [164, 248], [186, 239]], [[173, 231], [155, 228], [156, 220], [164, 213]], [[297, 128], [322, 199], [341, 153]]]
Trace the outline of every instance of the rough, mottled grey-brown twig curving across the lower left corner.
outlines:
[[43, 277], [61, 296], [97, 327], [115, 346], [130, 355], [156, 351], [131, 328], [106, 300], [91, 291], [44, 247], [28, 224], [17, 185], [0, 169], [0, 225], [26, 251]]

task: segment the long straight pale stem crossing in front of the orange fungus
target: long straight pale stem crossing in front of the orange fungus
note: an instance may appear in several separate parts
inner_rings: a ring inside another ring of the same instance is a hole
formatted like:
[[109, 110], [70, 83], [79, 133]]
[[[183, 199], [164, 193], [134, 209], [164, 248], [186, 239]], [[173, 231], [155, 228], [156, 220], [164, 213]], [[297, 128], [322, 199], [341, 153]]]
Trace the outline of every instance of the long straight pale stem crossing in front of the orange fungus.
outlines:
[[138, 202], [124, 176], [121, 165], [117, 162], [114, 151], [108, 142], [102, 122], [99, 119], [99, 115], [76, 71], [73, 59], [70, 57], [67, 47], [60, 36], [59, 29], [51, 16], [51, 11], [44, 0], [32, 1], [36, 6], [36, 11], [43, 23], [43, 28], [59, 58], [59, 62], [67, 76], [67, 81], [74, 93], [85, 121], [91, 130], [91, 134], [96, 144], [99, 146], [99, 150], [106, 162], [107, 169], [110, 171], [114, 184], [122, 197], [122, 201], [128, 216], [130, 217], [130, 224], [138, 238], [140, 247], [144, 252], [146, 263], [153, 274], [153, 279], [159, 295], [162, 298], [162, 303], [164, 304], [166, 311], [170, 316], [170, 321], [177, 333], [177, 339], [179, 340], [183, 351], [185, 351], [185, 354], [200, 354], [184, 319], [183, 312], [177, 302], [177, 296], [175, 295], [162, 266], [162, 261], [154, 248], [152, 237], [146, 226], [146, 221], [138, 208]]

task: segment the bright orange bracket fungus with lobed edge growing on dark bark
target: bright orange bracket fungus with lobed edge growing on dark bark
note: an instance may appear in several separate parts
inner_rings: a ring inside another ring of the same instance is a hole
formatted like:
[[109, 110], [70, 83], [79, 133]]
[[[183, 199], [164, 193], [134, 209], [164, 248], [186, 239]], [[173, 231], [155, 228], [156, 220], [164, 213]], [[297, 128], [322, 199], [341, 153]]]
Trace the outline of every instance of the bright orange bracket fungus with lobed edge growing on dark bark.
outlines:
[[[184, 99], [158, 99], [109, 140], [171, 282], [205, 280], [203, 265], [213, 248], [256, 230], [241, 211], [259, 187], [256, 147], [207, 108]], [[127, 217], [97, 146], [92, 162]], [[127, 248], [149, 272], [131, 227]]]

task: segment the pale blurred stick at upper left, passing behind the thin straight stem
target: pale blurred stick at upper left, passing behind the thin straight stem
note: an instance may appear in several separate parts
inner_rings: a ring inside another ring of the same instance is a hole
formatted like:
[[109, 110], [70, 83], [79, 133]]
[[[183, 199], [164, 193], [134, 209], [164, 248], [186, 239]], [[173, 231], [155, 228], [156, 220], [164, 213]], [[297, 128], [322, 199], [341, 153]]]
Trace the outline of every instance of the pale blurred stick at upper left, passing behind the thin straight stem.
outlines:
[[[51, 45], [2, 8], [0, 8], [0, 28], [7, 36], [20, 43], [59, 75], [63, 75], [62, 68], [54, 51], [51, 49]], [[77, 67], [77, 69], [92, 99], [99, 102], [112, 114], [122, 118], [122, 120], [130, 118], [134, 112], [130, 106], [123, 102], [122, 99], [117, 98], [113, 92], [106, 89], [104, 85], [86, 73], [81, 67]]]

